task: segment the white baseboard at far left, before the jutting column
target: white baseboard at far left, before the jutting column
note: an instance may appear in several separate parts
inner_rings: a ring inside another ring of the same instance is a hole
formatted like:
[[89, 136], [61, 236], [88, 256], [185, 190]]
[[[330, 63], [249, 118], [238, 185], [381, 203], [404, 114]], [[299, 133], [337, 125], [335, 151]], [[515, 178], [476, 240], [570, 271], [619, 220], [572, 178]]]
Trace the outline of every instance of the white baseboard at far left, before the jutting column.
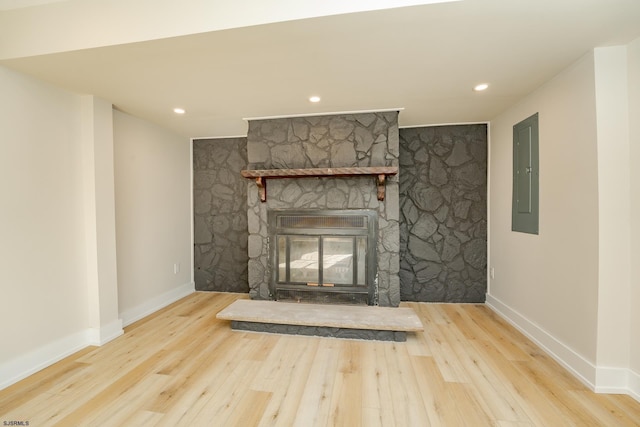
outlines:
[[0, 364], [0, 390], [35, 374], [89, 344], [89, 331], [80, 331]]

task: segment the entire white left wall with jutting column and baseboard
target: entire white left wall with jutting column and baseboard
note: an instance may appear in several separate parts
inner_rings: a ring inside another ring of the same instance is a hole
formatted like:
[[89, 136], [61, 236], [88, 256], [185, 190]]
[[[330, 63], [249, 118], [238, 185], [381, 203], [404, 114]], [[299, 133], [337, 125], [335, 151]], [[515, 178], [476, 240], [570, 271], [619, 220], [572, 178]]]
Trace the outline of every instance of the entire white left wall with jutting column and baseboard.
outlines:
[[0, 93], [2, 389], [194, 286], [188, 140], [4, 67]]

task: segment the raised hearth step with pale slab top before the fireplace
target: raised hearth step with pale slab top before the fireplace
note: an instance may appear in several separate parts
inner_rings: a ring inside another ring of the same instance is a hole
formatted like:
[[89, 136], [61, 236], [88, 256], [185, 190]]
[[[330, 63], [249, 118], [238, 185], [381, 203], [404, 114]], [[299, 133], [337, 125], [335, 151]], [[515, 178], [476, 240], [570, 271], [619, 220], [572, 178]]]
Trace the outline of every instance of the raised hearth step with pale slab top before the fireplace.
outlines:
[[404, 341], [407, 332], [423, 330], [409, 307], [236, 300], [216, 317], [231, 320], [234, 329], [386, 341]]

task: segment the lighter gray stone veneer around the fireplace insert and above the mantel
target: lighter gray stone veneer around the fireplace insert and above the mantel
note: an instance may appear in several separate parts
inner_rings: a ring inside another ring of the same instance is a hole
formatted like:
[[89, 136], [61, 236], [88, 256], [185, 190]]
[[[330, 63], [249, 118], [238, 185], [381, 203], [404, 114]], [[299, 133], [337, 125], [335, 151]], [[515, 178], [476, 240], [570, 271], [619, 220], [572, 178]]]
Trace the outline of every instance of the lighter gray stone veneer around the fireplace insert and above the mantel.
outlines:
[[[397, 166], [398, 113], [252, 120], [247, 135], [251, 169]], [[267, 202], [246, 183], [249, 229], [249, 288], [252, 298], [270, 299], [268, 209], [374, 209], [378, 212], [378, 301], [400, 303], [398, 177], [386, 184], [384, 202], [373, 177], [271, 179]]]

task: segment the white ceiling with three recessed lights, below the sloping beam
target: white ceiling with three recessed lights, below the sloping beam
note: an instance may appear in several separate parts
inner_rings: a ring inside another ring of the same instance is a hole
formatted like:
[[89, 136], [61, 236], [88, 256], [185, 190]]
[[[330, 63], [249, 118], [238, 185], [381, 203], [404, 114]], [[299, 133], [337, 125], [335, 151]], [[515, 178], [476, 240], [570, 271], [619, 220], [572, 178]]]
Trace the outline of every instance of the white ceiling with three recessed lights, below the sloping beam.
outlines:
[[[590, 49], [637, 37], [640, 0], [464, 0], [0, 64], [184, 136], [220, 137], [245, 135], [243, 118], [389, 108], [403, 108], [401, 126], [488, 121]], [[473, 92], [481, 82], [490, 88]]]

